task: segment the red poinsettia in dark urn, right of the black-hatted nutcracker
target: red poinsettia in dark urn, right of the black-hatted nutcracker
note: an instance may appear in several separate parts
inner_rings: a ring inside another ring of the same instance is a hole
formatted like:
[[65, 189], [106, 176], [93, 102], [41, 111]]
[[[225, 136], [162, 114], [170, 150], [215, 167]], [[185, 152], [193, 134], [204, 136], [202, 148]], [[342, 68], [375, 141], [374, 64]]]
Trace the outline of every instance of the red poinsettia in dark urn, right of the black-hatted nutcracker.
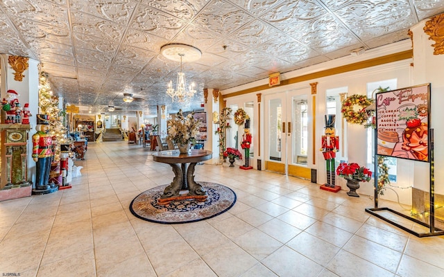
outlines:
[[359, 188], [359, 182], [370, 181], [372, 178], [372, 172], [364, 166], [359, 166], [357, 163], [341, 163], [336, 168], [336, 175], [347, 180], [347, 186], [350, 188], [347, 194], [353, 197], [359, 197], [356, 193], [356, 190]]

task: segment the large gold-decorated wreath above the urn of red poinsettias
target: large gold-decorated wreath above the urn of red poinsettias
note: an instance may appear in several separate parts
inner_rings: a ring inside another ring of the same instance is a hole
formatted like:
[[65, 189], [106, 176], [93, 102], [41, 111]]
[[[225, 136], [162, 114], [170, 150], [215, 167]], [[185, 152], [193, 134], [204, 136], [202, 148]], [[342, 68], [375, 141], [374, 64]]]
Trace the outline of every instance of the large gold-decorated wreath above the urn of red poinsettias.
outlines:
[[341, 113], [348, 123], [359, 124], [367, 122], [366, 107], [373, 103], [373, 99], [364, 95], [353, 94], [342, 101]]

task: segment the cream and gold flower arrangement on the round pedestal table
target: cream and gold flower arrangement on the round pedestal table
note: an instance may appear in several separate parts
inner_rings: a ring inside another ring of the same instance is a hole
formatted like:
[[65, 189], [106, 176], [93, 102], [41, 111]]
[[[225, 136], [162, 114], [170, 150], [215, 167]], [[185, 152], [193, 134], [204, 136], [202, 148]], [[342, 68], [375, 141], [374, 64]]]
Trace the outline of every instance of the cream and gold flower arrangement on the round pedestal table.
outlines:
[[193, 115], [194, 112], [191, 112], [184, 116], [182, 109], [180, 109], [176, 117], [168, 121], [167, 138], [178, 145], [188, 145], [196, 141], [200, 120], [194, 118]]

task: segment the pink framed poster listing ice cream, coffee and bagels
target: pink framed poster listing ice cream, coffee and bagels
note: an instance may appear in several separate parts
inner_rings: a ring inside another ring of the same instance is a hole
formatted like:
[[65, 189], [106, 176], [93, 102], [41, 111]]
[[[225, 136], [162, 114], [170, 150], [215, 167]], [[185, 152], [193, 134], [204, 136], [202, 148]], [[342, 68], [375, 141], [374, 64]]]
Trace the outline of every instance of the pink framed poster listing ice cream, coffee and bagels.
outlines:
[[429, 161], [430, 84], [376, 94], [377, 154]]

